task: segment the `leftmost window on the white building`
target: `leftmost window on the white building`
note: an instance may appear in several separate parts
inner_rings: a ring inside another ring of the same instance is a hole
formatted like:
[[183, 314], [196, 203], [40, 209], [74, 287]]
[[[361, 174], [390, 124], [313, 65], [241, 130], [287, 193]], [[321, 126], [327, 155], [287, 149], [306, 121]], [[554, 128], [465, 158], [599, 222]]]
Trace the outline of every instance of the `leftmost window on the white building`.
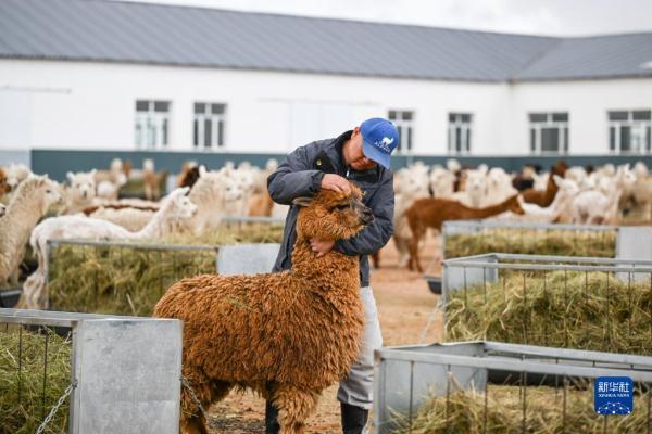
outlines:
[[161, 149], [167, 145], [170, 136], [170, 102], [136, 101], [136, 146]]

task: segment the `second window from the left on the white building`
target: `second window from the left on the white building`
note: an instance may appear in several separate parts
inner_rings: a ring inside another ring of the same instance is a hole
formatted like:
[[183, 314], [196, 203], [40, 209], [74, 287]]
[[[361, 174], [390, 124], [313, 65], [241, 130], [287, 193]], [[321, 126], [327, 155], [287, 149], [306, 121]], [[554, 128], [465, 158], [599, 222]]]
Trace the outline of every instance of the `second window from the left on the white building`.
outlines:
[[224, 146], [226, 104], [196, 102], [192, 119], [192, 145], [196, 150]]

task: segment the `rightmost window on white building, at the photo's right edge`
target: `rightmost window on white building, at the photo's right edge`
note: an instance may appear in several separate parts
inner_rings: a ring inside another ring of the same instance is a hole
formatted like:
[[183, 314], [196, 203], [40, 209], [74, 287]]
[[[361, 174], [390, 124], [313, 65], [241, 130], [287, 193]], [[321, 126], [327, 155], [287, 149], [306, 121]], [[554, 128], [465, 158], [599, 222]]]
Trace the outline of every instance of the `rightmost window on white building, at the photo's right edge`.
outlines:
[[652, 112], [609, 112], [609, 150], [615, 154], [650, 153]]

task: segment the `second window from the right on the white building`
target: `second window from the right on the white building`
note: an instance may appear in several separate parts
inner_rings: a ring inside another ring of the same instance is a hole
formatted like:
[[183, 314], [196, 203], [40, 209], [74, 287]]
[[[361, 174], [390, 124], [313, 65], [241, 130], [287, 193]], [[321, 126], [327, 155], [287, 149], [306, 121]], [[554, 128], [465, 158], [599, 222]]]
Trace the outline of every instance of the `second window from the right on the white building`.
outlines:
[[568, 113], [530, 113], [530, 152], [568, 153]]

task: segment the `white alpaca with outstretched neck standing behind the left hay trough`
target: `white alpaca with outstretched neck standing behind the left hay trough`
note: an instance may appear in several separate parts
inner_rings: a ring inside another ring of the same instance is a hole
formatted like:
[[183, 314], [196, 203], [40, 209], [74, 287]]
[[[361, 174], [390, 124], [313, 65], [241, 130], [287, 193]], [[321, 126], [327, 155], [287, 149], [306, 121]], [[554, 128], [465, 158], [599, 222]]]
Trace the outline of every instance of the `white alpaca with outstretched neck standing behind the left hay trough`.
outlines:
[[164, 237], [168, 233], [171, 221], [190, 218], [197, 212], [197, 205], [186, 196], [188, 190], [187, 187], [176, 189], [164, 197], [161, 208], [138, 232], [84, 215], [51, 217], [40, 222], [34, 228], [29, 238], [29, 244], [38, 258], [38, 269], [29, 276], [23, 286], [27, 307], [43, 308], [47, 302], [45, 276], [48, 267], [49, 240], [143, 240]]

